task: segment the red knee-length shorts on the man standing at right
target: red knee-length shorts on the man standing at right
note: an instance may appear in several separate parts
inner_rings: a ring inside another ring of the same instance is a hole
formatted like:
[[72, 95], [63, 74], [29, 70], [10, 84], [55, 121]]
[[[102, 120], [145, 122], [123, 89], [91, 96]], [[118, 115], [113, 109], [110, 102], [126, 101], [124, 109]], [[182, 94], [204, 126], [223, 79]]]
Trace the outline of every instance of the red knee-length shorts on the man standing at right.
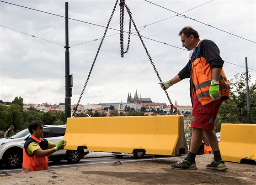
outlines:
[[197, 95], [195, 95], [191, 127], [213, 130], [215, 126], [215, 119], [222, 102], [223, 101], [221, 99], [218, 99], [203, 106], [199, 102]]

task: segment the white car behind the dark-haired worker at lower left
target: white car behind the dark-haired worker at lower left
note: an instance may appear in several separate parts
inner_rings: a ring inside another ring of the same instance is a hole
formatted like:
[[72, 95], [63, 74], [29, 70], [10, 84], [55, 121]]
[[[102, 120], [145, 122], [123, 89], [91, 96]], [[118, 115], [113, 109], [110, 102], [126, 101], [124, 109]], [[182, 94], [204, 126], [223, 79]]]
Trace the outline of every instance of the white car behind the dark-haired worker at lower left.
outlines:
[[[66, 126], [44, 125], [43, 129], [43, 138], [57, 144], [63, 139]], [[0, 164], [4, 164], [7, 168], [20, 167], [23, 160], [23, 146], [30, 135], [27, 128], [10, 138], [0, 139]], [[79, 148], [78, 150], [63, 149], [49, 155], [49, 160], [59, 162], [62, 159], [66, 159], [69, 163], [78, 163], [88, 153], [85, 148]]]

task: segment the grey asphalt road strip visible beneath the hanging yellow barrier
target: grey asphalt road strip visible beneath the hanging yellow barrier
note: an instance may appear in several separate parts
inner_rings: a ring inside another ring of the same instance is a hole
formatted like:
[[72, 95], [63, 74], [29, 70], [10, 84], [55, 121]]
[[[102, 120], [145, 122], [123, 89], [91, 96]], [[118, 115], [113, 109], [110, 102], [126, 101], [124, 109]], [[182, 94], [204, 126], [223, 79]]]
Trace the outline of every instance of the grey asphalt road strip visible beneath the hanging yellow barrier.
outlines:
[[[86, 155], [87, 156], [87, 155]], [[181, 156], [179, 156], [181, 157]], [[120, 164], [120, 163], [128, 163], [128, 162], [138, 162], [138, 161], [147, 161], [147, 160], [156, 160], [156, 159], [170, 159], [176, 158], [174, 156], [153, 156], [153, 155], [145, 155], [143, 159], [134, 159], [133, 156], [127, 155], [123, 156], [121, 159], [118, 159], [115, 156], [108, 155], [104, 157], [88, 157], [85, 159], [81, 159], [77, 164], [69, 164], [66, 160], [61, 160], [58, 164], [49, 161], [48, 170], [58, 170], [64, 168], [74, 168], [74, 167], [82, 167], [82, 166], [92, 166], [92, 165], [101, 165], [101, 164]], [[18, 169], [6, 169], [4, 166], [0, 166], [0, 174], [7, 173], [20, 173], [21, 168]]]

